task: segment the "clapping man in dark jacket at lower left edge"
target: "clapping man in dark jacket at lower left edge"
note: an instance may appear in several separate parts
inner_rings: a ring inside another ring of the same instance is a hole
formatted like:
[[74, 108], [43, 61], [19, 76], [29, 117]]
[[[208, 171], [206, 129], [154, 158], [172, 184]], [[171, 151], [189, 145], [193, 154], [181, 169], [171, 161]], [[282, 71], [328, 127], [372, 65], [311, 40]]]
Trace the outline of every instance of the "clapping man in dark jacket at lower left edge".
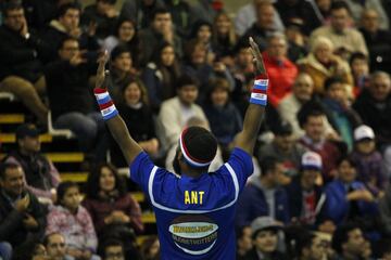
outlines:
[[45, 211], [37, 197], [25, 188], [22, 168], [14, 164], [1, 164], [0, 242], [12, 245], [12, 259], [27, 259], [35, 243], [43, 238]]

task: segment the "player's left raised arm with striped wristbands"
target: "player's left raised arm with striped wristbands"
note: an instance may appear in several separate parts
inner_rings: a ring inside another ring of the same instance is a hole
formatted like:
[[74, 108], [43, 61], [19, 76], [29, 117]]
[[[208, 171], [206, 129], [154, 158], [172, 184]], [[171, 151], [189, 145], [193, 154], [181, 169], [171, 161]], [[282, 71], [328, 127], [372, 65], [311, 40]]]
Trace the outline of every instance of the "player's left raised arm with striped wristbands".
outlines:
[[142, 151], [142, 148], [130, 136], [124, 120], [118, 115], [118, 112], [115, 108], [115, 105], [108, 92], [106, 78], [109, 75], [109, 70], [105, 70], [104, 68], [108, 60], [109, 54], [106, 51], [98, 60], [99, 66], [97, 70], [97, 81], [93, 93], [97, 98], [99, 108], [102, 113], [103, 119], [106, 121], [110, 132], [119, 145], [126, 162], [130, 165], [131, 161], [136, 158], [136, 156]]

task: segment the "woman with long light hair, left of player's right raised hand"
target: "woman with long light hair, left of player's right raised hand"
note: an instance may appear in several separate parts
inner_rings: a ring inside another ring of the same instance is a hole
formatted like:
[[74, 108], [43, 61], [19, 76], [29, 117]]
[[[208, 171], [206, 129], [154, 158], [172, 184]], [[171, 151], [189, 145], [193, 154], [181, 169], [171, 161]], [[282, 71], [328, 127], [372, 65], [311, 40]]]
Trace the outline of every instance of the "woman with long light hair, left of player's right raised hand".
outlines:
[[212, 26], [212, 49], [216, 60], [222, 61], [229, 67], [234, 66], [234, 50], [238, 37], [228, 13], [220, 12], [216, 15]]

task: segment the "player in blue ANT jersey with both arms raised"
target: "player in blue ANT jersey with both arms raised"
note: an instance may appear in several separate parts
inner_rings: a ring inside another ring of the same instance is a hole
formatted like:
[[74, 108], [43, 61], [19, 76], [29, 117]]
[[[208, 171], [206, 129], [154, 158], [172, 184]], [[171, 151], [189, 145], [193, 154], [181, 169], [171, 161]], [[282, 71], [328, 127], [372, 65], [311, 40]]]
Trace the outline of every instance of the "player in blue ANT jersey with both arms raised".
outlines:
[[[178, 148], [173, 160], [175, 172], [153, 164], [130, 136], [108, 92], [109, 72], [104, 69], [108, 52], [99, 60], [93, 92], [129, 165], [131, 180], [141, 186], [152, 204], [162, 260], [234, 260], [236, 257], [236, 204], [253, 172], [251, 155], [265, 112], [268, 86], [261, 51], [252, 38], [249, 40], [256, 74], [243, 129], [236, 136], [236, 148], [228, 161], [211, 173], [209, 167], [216, 155], [217, 140], [201, 127], [179, 130]], [[189, 87], [197, 93], [197, 87], [182, 86]]]

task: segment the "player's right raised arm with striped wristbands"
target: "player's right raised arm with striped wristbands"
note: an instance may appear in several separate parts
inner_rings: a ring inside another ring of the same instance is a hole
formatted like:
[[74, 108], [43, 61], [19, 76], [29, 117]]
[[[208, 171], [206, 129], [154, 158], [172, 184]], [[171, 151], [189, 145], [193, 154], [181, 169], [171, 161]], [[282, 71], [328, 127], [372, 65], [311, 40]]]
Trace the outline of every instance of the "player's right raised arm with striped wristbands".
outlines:
[[252, 155], [267, 104], [268, 78], [257, 44], [251, 37], [249, 40], [255, 63], [255, 81], [251, 92], [250, 105], [244, 115], [243, 130], [236, 138], [236, 146]]

